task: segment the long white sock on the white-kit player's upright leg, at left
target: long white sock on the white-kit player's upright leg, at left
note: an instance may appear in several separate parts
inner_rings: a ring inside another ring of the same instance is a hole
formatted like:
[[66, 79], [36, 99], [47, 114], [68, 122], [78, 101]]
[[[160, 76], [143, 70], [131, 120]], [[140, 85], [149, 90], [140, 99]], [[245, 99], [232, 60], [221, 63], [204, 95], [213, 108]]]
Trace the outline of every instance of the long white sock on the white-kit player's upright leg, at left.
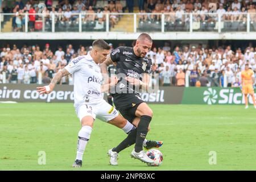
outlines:
[[84, 150], [88, 140], [90, 139], [90, 133], [92, 133], [92, 127], [90, 126], [82, 126], [81, 130], [78, 134], [78, 141], [77, 141], [77, 152], [76, 152], [76, 159], [82, 160], [82, 155], [84, 154]]

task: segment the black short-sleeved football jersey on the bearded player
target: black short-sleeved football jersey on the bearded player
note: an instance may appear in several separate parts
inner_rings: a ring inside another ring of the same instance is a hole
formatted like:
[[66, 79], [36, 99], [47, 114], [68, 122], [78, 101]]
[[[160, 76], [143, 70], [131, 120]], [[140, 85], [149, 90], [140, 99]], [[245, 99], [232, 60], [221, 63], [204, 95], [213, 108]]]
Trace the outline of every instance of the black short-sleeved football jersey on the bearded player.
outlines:
[[[116, 93], [138, 93], [133, 85], [127, 83], [123, 77], [133, 77], [142, 80], [143, 73], [151, 73], [152, 61], [147, 57], [135, 55], [132, 47], [118, 47], [110, 53], [113, 62], [117, 63], [117, 77], [119, 79]], [[125, 90], [126, 88], [126, 90]], [[137, 90], [137, 89], [136, 89]]]

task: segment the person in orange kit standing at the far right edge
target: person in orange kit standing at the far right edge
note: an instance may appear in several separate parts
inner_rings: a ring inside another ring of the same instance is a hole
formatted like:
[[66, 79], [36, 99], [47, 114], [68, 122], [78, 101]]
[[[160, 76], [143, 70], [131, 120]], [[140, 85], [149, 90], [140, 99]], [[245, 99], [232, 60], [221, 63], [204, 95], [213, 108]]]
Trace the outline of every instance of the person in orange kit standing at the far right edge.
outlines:
[[245, 94], [245, 109], [248, 108], [248, 94], [253, 98], [253, 105], [256, 109], [255, 97], [254, 97], [254, 72], [249, 69], [249, 65], [245, 65], [245, 71], [241, 74], [242, 77], [242, 92]]

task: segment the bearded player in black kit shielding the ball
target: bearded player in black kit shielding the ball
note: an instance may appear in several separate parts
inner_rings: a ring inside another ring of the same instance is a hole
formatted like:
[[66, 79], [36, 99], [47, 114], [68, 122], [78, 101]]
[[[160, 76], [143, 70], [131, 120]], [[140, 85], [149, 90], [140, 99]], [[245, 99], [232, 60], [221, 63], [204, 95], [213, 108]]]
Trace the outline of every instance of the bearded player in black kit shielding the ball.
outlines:
[[[147, 59], [146, 55], [151, 47], [152, 39], [150, 35], [141, 34], [134, 47], [118, 47], [114, 49], [108, 59], [101, 64], [101, 72], [105, 75], [107, 75], [108, 65], [117, 65], [119, 81], [113, 94], [114, 105], [123, 117], [137, 126], [117, 147], [109, 150], [110, 164], [112, 164], [112, 160], [116, 163], [118, 153], [134, 143], [135, 147], [131, 152], [131, 157], [145, 163], [154, 162], [143, 151], [143, 141], [149, 130], [153, 113], [146, 102], [141, 99], [139, 90], [135, 89], [147, 90], [149, 88], [148, 83], [150, 81], [152, 62]], [[146, 146], [152, 148], [160, 147], [162, 144], [163, 142], [147, 141]]]

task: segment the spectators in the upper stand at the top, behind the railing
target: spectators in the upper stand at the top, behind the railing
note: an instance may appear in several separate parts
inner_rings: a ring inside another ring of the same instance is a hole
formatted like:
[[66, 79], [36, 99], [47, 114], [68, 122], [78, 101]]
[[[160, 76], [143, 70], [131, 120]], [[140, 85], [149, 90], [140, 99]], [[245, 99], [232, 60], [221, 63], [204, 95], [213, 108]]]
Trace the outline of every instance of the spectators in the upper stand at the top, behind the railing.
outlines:
[[[128, 9], [129, 13], [134, 12], [134, 1], [96, 1], [96, 0], [59, 0], [54, 3], [53, 0], [46, 0], [44, 8], [44, 20], [48, 23], [52, 20], [52, 14], [55, 14], [55, 22], [69, 24], [77, 23], [79, 15], [82, 13], [82, 22], [105, 22], [107, 13], [122, 13]], [[99, 3], [102, 2], [102, 3]], [[126, 6], [123, 6], [123, 5]], [[221, 13], [222, 20], [246, 22], [247, 16], [241, 13], [256, 13], [256, 2], [253, 0], [139, 0], [138, 7], [140, 13], [167, 13], [166, 22], [182, 21], [188, 22], [189, 16], [184, 13], [194, 13], [193, 20], [200, 22], [216, 22], [217, 16], [205, 15], [205, 13]], [[213, 10], [215, 9], [216, 10]], [[23, 13], [41, 13], [42, 7], [40, 1], [4, 1], [2, 2], [3, 13], [15, 13], [13, 18], [13, 31], [23, 31], [25, 16]], [[57, 13], [61, 13], [57, 15]], [[75, 14], [72, 14], [75, 13]], [[95, 15], [88, 14], [95, 13]], [[29, 31], [35, 31], [36, 20], [42, 20], [42, 16], [29, 15]], [[143, 22], [146, 20], [160, 21], [161, 15], [139, 15], [139, 19]], [[117, 24], [120, 16], [110, 15], [110, 25], [112, 27]], [[250, 19], [256, 22], [256, 14], [251, 14]], [[41, 27], [39, 26], [38, 29]]]

